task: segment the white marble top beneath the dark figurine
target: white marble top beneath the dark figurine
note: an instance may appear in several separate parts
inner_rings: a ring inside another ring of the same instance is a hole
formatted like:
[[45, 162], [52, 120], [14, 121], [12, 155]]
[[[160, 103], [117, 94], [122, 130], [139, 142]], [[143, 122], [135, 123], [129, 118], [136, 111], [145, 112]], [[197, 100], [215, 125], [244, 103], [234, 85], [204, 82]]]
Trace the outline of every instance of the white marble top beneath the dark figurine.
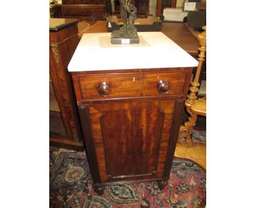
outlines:
[[198, 64], [162, 32], [138, 32], [139, 44], [111, 44], [110, 35], [85, 33], [68, 71], [173, 68]]

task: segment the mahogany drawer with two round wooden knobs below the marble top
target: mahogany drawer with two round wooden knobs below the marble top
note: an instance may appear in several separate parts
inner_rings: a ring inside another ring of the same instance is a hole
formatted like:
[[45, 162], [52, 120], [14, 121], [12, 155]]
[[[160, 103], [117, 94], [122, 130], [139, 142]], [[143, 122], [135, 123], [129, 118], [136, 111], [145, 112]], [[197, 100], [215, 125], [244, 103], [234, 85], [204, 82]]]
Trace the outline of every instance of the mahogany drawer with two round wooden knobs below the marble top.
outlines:
[[[188, 71], [77, 75], [77, 99], [103, 100], [149, 96], [183, 96]], [[185, 92], [187, 94], [187, 91]]]

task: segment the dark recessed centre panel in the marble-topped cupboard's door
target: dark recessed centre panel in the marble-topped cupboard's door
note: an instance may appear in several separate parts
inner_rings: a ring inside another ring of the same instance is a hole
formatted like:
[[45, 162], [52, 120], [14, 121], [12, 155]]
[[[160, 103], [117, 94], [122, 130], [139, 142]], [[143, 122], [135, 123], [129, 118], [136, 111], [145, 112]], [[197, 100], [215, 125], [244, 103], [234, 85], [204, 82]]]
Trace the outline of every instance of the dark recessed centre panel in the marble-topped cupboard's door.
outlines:
[[163, 124], [158, 109], [106, 112], [101, 127], [107, 174], [119, 178], [156, 172]]

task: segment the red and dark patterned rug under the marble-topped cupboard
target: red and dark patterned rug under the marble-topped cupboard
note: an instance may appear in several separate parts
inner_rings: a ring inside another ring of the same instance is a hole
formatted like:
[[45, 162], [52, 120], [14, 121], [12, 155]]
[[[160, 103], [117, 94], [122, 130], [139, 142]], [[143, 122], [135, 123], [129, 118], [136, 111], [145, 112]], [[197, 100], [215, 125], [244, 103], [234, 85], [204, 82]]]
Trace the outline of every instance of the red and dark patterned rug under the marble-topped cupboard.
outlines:
[[[205, 141], [196, 131], [193, 139]], [[196, 164], [174, 159], [168, 185], [156, 182], [106, 186], [100, 197], [92, 188], [85, 152], [50, 147], [50, 207], [205, 207], [206, 173]]]

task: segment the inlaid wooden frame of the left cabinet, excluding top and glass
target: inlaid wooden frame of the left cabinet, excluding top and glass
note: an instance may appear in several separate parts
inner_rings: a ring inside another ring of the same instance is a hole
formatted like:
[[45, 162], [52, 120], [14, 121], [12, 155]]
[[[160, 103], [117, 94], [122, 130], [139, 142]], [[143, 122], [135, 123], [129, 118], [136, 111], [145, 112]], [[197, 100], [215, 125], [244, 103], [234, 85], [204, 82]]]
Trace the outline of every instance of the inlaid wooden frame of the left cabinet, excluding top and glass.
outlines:
[[[50, 132], [50, 144], [83, 149], [82, 132], [67, 66], [78, 45], [77, 24], [49, 33], [50, 76], [66, 134]], [[51, 120], [51, 118], [50, 118]]]

